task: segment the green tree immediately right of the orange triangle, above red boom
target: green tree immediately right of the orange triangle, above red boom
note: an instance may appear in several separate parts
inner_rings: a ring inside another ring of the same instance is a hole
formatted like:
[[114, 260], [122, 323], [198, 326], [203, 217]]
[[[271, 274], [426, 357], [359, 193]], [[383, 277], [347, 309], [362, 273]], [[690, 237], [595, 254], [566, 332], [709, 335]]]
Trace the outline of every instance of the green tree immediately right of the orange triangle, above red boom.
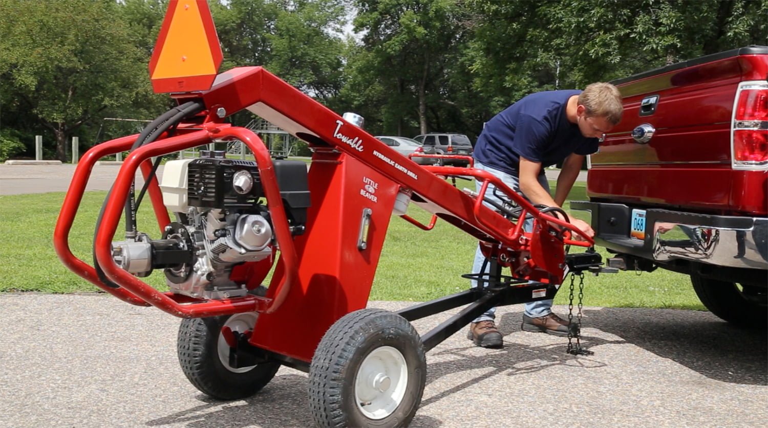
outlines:
[[[339, 93], [341, 0], [230, 0], [210, 8], [224, 56], [221, 71], [263, 66], [323, 102]], [[230, 117], [238, 125], [252, 119], [247, 111]]]

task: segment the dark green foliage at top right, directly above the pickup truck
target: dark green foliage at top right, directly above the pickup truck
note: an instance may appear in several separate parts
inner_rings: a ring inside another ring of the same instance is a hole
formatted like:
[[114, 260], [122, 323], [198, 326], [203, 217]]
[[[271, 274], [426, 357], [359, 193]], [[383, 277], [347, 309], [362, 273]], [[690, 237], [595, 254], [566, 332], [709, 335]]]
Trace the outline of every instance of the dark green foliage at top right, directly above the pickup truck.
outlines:
[[563, 58], [579, 85], [646, 71], [746, 44], [766, 44], [768, 3], [749, 0], [548, 2], [541, 21], [557, 37], [551, 54]]

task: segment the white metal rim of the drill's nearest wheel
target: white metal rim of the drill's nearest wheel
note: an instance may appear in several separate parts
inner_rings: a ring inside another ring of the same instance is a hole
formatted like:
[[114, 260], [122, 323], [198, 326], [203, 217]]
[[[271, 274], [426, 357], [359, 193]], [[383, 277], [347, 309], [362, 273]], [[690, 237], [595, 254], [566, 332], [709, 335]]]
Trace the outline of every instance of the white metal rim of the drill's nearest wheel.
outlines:
[[384, 419], [406, 396], [408, 364], [391, 346], [377, 347], [360, 364], [355, 377], [355, 403], [369, 419]]

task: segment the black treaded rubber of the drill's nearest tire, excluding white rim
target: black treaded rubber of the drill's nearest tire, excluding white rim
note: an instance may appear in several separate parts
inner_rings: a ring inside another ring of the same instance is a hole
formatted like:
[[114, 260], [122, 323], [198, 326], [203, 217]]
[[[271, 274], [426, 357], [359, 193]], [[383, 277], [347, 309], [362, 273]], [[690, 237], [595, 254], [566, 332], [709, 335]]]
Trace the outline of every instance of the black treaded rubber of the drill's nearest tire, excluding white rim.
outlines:
[[[406, 395], [391, 415], [371, 420], [353, 403], [354, 376], [362, 360], [376, 348], [367, 349], [366, 345], [375, 344], [371, 340], [377, 337], [394, 334], [402, 340], [401, 346], [395, 347], [409, 365]], [[320, 341], [310, 365], [310, 410], [319, 426], [408, 426], [419, 408], [425, 384], [424, 346], [411, 323], [389, 311], [361, 309], [336, 321]], [[350, 399], [345, 400], [347, 397]]]

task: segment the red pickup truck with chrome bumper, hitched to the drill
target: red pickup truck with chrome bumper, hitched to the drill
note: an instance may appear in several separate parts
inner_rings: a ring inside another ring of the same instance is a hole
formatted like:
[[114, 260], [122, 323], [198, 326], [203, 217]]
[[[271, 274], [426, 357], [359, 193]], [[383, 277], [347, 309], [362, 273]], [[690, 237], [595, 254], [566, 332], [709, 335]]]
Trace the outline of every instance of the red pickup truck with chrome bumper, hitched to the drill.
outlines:
[[613, 83], [624, 118], [589, 162], [596, 242], [626, 270], [690, 275], [713, 314], [766, 328], [768, 47], [749, 46]]

